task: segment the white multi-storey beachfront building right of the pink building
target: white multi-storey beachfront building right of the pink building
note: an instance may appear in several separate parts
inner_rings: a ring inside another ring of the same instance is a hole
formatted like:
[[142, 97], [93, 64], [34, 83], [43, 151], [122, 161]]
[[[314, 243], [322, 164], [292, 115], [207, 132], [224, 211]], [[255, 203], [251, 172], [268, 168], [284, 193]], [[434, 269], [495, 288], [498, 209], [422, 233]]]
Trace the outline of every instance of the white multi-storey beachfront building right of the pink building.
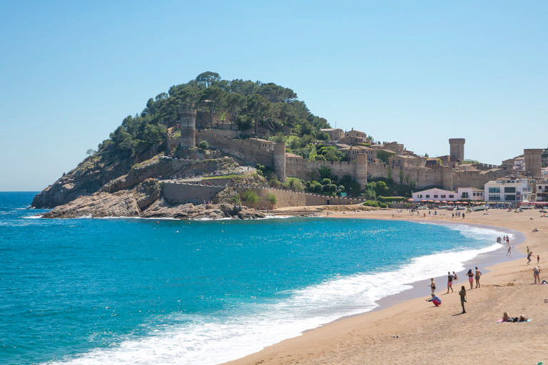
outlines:
[[484, 194], [486, 202], [522, 202], [532, 200], [533, 189], [527, 179], [501, 178], [485, 183]]

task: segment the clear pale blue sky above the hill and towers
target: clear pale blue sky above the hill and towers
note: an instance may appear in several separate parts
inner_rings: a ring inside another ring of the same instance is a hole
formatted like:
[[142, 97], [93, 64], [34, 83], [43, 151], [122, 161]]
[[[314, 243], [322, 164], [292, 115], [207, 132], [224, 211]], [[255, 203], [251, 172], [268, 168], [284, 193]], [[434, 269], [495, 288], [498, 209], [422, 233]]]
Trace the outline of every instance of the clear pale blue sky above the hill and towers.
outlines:
[[548, 1], [4, 1], [0, 191], [42, 190], [204, 71], [415, 153], [548, 147]]

